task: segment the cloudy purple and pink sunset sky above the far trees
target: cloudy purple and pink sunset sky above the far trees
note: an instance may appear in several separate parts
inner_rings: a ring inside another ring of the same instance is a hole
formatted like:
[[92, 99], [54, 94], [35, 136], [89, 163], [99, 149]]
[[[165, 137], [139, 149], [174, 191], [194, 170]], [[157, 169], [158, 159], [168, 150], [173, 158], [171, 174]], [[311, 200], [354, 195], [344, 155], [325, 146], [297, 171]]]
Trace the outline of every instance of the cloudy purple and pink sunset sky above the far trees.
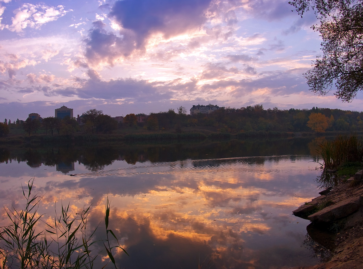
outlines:
[[322, 52], [282, 0], [0, 0], [0, 120], [29, 113], [111, 116], [209, 103], [362, 111], [309, 91]]

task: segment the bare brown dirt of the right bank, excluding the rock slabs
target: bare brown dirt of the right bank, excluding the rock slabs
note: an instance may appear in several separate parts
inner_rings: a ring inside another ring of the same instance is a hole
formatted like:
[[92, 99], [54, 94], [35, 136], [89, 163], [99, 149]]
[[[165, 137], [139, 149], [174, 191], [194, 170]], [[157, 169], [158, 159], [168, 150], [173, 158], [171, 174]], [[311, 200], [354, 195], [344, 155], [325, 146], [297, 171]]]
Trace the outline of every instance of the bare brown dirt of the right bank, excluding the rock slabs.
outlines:
[[[346, 193], [348, 196], [363, 195], [363, 185], [349, 187], [349, 182], [340, 182], [330, 195]], [[315, 266], [294, 269], [363, 269], [363, 210], [346, 219], [345, 226], [336, 233], [335, 249], [330, 261]]]

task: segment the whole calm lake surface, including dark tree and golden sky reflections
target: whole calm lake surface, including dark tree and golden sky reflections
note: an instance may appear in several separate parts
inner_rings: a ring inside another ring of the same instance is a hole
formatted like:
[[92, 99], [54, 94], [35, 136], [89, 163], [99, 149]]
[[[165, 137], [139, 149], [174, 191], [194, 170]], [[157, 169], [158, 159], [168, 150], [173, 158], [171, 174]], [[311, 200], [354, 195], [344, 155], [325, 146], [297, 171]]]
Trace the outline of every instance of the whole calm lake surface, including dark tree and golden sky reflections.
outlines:
[[[21, 188], [34, 178], [45, 222], [61, 204], [70, 204], [72, 217], [91, 206], [87, 228], [99, 225], [102, 238], [108, 197], [109, 228], [130, 255], [115, 252], [118, 268], [314, 265], [310, 222], [291, 211], [320, 191], [319, 139], [3, 146], [0, 200], [19, 210]], [[106, 253], [99, 262], [109, 262]]]

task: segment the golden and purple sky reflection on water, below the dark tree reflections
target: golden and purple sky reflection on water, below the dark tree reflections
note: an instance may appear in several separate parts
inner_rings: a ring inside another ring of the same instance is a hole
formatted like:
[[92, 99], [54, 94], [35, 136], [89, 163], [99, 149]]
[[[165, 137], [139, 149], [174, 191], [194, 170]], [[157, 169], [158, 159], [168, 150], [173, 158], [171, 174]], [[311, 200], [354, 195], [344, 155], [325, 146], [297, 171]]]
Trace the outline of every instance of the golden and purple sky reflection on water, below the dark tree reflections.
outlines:
[[[174, 162], [114, 161], [91, 172], [73, 162], [29, 167], [0, 164], [1, 202], [19, 207], [23, 186], [34, 177], [51, 219], [55, 200], [73, 212], [92, 204], [90, 223], [103, 218], [107, 194], [111, 226], [130, 257], [122, 268], [280, 268], [315, 264], [302, 247], [305, 220], [291, 215], [318, 193], [310, 156], [240, 157]], [[57, 171], [59, 170], [59, 171]], [[3, 213], [3, 211], [2, 211]], [[1, 221], [5, 221], [4, 214]]]

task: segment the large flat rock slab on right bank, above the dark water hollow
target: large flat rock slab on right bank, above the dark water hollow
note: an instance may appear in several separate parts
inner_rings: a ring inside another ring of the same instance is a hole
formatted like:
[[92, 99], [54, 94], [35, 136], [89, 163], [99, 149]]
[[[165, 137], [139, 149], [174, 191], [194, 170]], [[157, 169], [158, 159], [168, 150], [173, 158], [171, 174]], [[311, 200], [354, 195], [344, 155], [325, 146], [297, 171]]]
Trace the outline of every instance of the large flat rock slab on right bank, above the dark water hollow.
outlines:
[[330, 223], [335, 220], [345, 218], [360, 208], [361, 196], [348, 198], [331, 206], [325, 207], [322, 210], [307, 217], [311, 222]]

